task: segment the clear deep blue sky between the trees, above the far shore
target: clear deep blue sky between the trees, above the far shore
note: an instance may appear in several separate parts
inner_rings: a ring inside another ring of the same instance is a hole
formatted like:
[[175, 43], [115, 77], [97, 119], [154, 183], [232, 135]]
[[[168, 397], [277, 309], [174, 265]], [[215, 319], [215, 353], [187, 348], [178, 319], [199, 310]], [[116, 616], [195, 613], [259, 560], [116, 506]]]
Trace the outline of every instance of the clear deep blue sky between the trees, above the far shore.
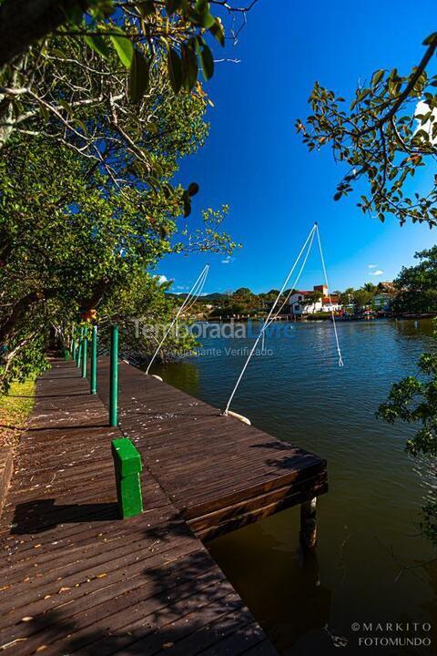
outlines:
[[[211, 254], [168, 256], [158, 272], [175, 281], [174, 291], [187, 289], [206, 261], [207, 292], [279, 288], [314, 220], [332, 289], [392, 280], [402, 264], [413, 263], [415, 251], [437, 242], [435, 229], [425, 225], [371, 220], [356, 207], [357, 195], [334, 202], [342, 169], [328, 149], [309, 153], [294, 130], [295, 118], [310, 113], [316, 79], [349, 97], [377, 68], [407, 73], [422, 57], [432, 16], [435, 2], [428, 0], [420, 11], [406, 0], [259, 0], [238, 46], [226, 53], [240, 63], [217, 64], [206, 86], [215, 105], [208, 110], [208, 142], [181, 162], [178, 175], [200, 185], [194, 217], [202, 207], [229, 204], [226, 230], [243, 248], [228, 263]], [[221, 56], [218, 48], [215, 55]], [[423, 186], [424, 176], [415, 182]], [[320, 262], [310, 257], [300, 288], [321, 281]]]

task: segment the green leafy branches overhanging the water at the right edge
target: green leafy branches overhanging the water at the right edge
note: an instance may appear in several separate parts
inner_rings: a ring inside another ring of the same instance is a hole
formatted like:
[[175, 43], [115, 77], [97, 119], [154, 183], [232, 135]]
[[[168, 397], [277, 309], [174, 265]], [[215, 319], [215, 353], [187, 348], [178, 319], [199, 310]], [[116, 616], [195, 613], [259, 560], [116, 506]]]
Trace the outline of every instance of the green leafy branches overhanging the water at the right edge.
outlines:
[[[437, 339], [437, 323], [434, 320], [434, 339]], [[420, 425], [414, 437], [407, 441], [407, 453], [425, 456], [429, 460], [437, 456], [437, 352], [422, 354], [418, 361], [419, 375], [407, 376], [399, 383], [391, 384], [388, 400], [381, 404], [377, 417], [394, 424], [400, 420]], [[422, 530], [437, 545], [437, 497], [435, 492], [424, 507]]]

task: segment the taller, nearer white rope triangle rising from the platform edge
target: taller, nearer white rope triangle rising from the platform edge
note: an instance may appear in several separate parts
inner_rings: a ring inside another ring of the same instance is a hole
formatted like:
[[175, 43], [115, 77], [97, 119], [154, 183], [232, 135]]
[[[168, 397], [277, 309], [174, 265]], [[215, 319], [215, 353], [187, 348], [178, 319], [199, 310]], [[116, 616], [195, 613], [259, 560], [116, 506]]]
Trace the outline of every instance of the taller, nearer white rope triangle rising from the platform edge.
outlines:
[[[337, 333], [337, 326], [336, 326], [336, 323], [335, 323], [335, 314], [334, 314], [334, 310], [333, 310], [333, 306], [332, 306], [332, 299], [331, 299], [331, 296], [330, 296], [330, 285], [329, 285], [329, 282], [328, 282], [328, 275], [327, 275], [327, 272], [326, 272], [325, 260], [324, 260], [324, 257], [323, 257], [323, 251], [322, 251], [322, 248], [321, 248], [319, 226], [318, 226], [317, 223], [314, 223], [314, 225], [312, 226], [312, 228], [311, 228], [311, 230], [310, 230], [310, 232], [309, 232], [309, 234], [308, 234], [307, 239], [305, 240], [305, 242], [304, 242], [302, 248], [300, 249], [300, 252], [299, 252], [298, 257], [297, 257], [296, 260], [294, 261], [294, 263], [293, 263], [293, 265], [292, 265], [292, 267], [291, 267], [291, 269], [290, 269], [290, 272], [288, 273], [288, 275], [287, 275], [285, 281], [282, 283], [282, 287], [281, 287], [280, 290], [279, 290], [278, 296], [276, 297], [275, 302], [274, 302], [273, 305], [271, 306], [271, 309], [270, 309], [270, 311], [269, 311], [269, 314], [268, 314], [267, 318], [265, 319], [264, 323], [263, 323], [262, 326], [261, 326], [261, 329], [260, 329], [260, 331], [259, 331], [259, 334], [258, 334], [258, 336], [257, 336], [257, 339], [255, 340], [255, 343], [253, 343], [252, 348], [250, 349], [250, 352], [249, 352], [248, 358], [247, 358], [245, 364], [243, 365], [243, 368], [241, 369], [241, 372], [240, 372], [240, 374], [239, 374], [239, 377], [238, 377], [238, 379], [237, 379], [237, 382], [236, 382], [236, 384], [234, 385], [234, 388], [233, 388], [233, 390], [232, 390], [232, 392], [231, 392], [231, 394], [230, 394], [230, 396], [229, 396], [229, 401], [228, 401], [228, 403], [227, 403], [227, 405], [226, 405], [226, 407], [225, 407], [225, 409], [224, 409], [224, 411], [223, 411], [223, 413], [222, 413], [223, 415], [229, 415], [229, 414], [236, 415], [236, 413], [232, 413], [232, 412], [229, 410], [229, 408], [230, 408], [230, 405], [231, 405], [231, 403], [232, 403], [232, 400], [233, 400], [233, 398], [234, 398], [234, 396], [235, 396], [235, 394], [236, 394], [236, 392], [237, 392], [237, 390], [238, 390], [238, 388], [239, 388], [239, 384], [240, 384], [240, 382], [241, 382], [241, 380], [242, 380], [242, 378], [243, 378], [243, 375], [244, 375], [245, 372], [246, 372], [246, 369], [247, 369], [248, 366], [249, 366], [249, 362], [250, 362], [250, 360], [251, 360], [251, 358], [252, 358], [252, 355], [255, 353], [255, 350], [256, 350], [256, 348], [257, 348], [257, 345], [258, 345], [258, 343], [259, 343], [259, 340], [262, 339], [262, 344], [263, 344], [263, 347], [264, 347], [264, 334], [265, 334], [267, 328], [269, 327], [269, 325], [270, 325], [271, 323], [273, 323], [273, 322], [278, 318], [279, 313], [281, 312], [281, 310], [283, 309], [283, 307], [286, 305], [286, 303], [289, 301], [291, 294], [292, 294], [292, 293], [295, 291], [295, 289], [297, 288], [297, 284], [298, 284], [298, 282], [300, 281], [300, 276], [301, 276], [301, 274], [302, 274], [302, 272], [303, 272], [303, 270], [304, 270], [304, 268], [305, 268], [305, 265], [306, 265], [306, 263], [307, 263], [307, 261], [308, 261], [308, 258], [309, 258], [309, 255], [310, 255], [310, 251], [311, 251], [311, 247], [312, 247], [312, 243], [313, 243], [313, 241], [314, 241], [314, 236], [315, 236], [316, 234], [317, 234], [317, 241], [318, 241], [318, 244], [319, 244], [320, 260], [321, 260], [321, 266], [322, 266], [322, 270], [323, 270], [323, 275], [324, 275], [324, 278], [325, 278], [325, 285], [326, 285], [326, 288], [327, 288], [328, 298], [330, 299], [330, 314], [331, 314], [332, 325], [333, 325], [333, 329], [334, 329], [335, 343], [336, 343], [336, 347], [337, 347], [337, 354], [338, 354], [338, 356], [339, 356], [338, 364], [339, 364], [339, 366], [343, 366], [343, 360], [342, 360], [342, 357], [341, 357], [341, 350], [340, 350], [340, 343], [339, 343], [339, 335], [338, 335], [338, 333]], [[282, 296], [282, 293], [284, 292], [284, 290], [286, 289], [287, 284], [289, 283], [290, 278], [291, 278], [291, 276], [292, 276], [294, 270], [295, 270], [296, 267], [298, 266], [298, 263], [300, 262], [300, 258], [302, 257], [303, 253], [305, 253], [305, 255], [303, 256], [303, 261], [302, 261], [302, 263], [301, 263], [301, 265], [300, 265], [300, 270], [299, 270], [299, 272], [298, 272], [298, 274], [297, 274], [297, 276], [296, 276], [296, 278], [295, 278], [293, 284], [292, 284], [291, 287], [290, 287], [290, 292], [288, 292], [288, 294], [287, 294], [285, 300], [284, 300], [284, 301], [282, 302], [282, 304], [280, 305], [279, 310], [276, 310], [276, 312], [275, 312], [275, 308], [277, 307], [277, 305], [278, 305], [278, 303], [279, 303], [279, 299], [280, 299], [280, 297]], [[238, 416], [239, 416], [239, 415], [238, 415]], [[239, 417], [239, 418], [245, 419], [246, 422], [249, 422], [249, 420], [246, 419], [245, 417]]]

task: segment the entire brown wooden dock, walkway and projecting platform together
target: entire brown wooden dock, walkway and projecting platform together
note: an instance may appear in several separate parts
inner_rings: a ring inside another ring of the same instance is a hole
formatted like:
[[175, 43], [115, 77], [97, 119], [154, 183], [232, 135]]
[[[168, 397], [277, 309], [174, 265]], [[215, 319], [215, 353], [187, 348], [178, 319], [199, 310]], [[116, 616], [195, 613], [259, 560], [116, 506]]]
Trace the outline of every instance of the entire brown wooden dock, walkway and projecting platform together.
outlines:
[[[0, 520], [0, 650], [17, 656], [248, 656], [275, 649], [199, 538], [318, 496], [324, 461], [120, 364], [120, 429], [74, 364], [37, 383]], [[110, 441], [145, 463], [117, 516]], [[194, 531], [194, 532], [193, 532]]]

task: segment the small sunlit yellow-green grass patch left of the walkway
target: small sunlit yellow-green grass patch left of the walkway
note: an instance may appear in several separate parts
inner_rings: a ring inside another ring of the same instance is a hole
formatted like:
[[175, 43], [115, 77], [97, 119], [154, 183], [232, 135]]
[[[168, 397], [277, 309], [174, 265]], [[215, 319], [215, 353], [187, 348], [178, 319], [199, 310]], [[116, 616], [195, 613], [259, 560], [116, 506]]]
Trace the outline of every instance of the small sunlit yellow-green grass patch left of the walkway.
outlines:
[[35, 380], [13, 383], [0, 395], [0, 448], [16, 446], [34, 407]]

